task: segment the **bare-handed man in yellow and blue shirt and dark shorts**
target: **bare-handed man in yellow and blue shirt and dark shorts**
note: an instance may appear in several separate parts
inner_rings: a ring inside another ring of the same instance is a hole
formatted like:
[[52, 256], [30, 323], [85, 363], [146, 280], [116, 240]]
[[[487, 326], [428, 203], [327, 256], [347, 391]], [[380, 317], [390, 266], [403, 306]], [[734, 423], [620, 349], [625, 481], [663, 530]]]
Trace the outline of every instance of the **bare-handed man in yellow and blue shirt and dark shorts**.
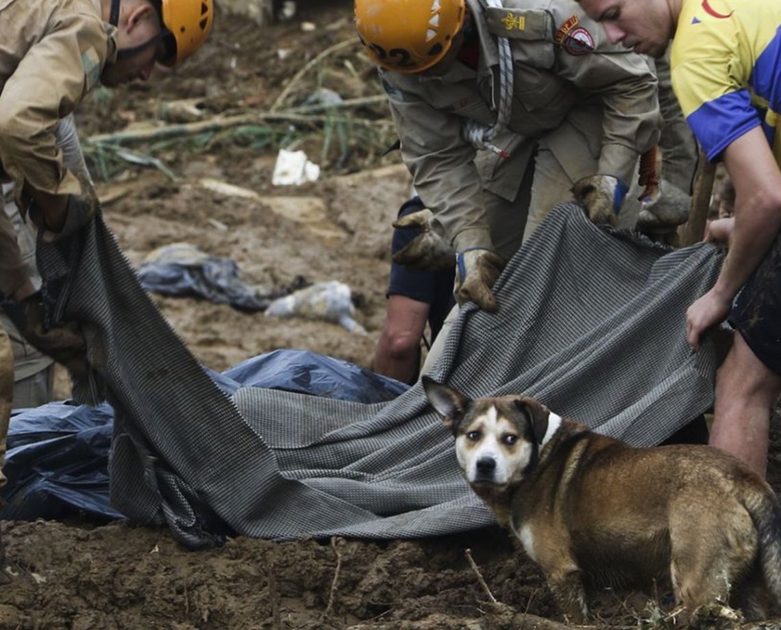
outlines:
[[696, 349], [722, 320], [733, 326], [709, 443], [765, 475], [781, 393], [781, 3], [580, 3], [615, 44], [658, 57], [672, 41], [672, 87], [686, 122], [734, 187], [734, 216], [705, 231], [728, 252], [715, 285], [686, 311], [687, 340]]

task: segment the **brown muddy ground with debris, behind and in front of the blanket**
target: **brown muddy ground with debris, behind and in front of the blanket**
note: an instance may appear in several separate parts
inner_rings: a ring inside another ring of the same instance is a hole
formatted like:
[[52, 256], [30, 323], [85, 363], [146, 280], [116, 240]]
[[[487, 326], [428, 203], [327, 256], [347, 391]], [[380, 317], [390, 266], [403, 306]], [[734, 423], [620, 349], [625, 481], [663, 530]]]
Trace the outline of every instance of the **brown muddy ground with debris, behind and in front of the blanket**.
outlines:
[[[191, 63], [148, 85], [97, 91], [80, 112], [85, 139], [144, 123], [160, 130], [222, 117], [203, 133], [127, 144], [161, 160], [157, 166], [85, 143], [106, 219], [131, 262], [187, 242], [234, 258], [248, 283], [280, 288], [303, 276], [341, 280], [354, 292], [366, 334], [153, 296], [205, 365], [222, 370], [277, 348], [305, 348], [369, 366], [383, 323], [389, 225], [409, 182], [398, 154], [381, 155], [394, 137], [386, 109], [373, 99], [380, 94], [374, 70], [351, 41], [348, 0], [301, 3], [293, 20], [264, 28], [218, 12], [211, 41]], [[291, 111], [311, 107], [306, 100], [319, 87], [364, 104], [349, 108], [341, 123], [333, 112]], [[259, 117], [271, 111], [276, 118]], [[234, 116], [248, 116], [246, 124], [230, 123]], [[321, 179], [272, 186], [280, 146], [305, 150], [322, 167]], [[253, 194], [216, 190], [214, 180]], [[62, 375], [58, 388], [66, 397]], [[779, 464], [774, 429], [776, 488]], [[0, 587], [0, 630], [488, 630], [553, 627], [557, 619], [539, 571], [493, 529], [384, 543], [237, 538], [198, 552], [184, 550], [166, 529], [85, 517], [3, 522], [2, 532], [11, 574]], [[669, 608], [663, 594], [658, 599]], [[595, 593], [592, 604], [596, 628], [669, 623], [637, 594]]]

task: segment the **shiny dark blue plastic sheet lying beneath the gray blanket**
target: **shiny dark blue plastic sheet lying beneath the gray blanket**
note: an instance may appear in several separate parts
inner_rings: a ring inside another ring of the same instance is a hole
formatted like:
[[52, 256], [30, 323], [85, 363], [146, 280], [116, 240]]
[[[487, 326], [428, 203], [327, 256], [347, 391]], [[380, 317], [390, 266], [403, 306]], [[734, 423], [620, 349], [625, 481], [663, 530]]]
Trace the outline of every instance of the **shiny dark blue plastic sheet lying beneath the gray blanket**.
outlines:
[[[228, 394], [263, 387], [314, 396], [377, 403], [408, 389], [405, 383], [348, 361], [297, 350], [248, 359], [226, 372], [205, 368]], [[54, 402], [17, 411], [11, 418], [0, 518], [32, 521], [75, 514], [123, 518], [109, 504], [109, 450], [114, 410]]]

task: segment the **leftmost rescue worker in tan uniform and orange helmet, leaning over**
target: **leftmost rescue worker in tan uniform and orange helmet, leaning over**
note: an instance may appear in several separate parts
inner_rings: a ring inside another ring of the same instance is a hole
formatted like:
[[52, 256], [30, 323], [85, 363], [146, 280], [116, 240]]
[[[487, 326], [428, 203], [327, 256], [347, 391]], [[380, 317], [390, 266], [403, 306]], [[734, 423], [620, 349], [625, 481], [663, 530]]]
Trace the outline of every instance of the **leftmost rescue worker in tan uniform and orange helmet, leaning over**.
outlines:
[[[97, 203], [87, 178], [64, 162], [55, 135], [59, 121], [98, 82], [115, 87], [147, 80], [155, 63], [177, 66], [205, 41], [213, 19], [213, 0], [0, 0], [0, 180], [13, 183], [16, 205], [37, 226], [39, 239], [77, 232]], [[75, 323], [45, 326], [40, 296], [2, 208], [0, 294], [11, 302], [25, 340], [71, 370], [86, 365]], [[2, 376], [13, 374], [7, 345], [3, 332]], [[5, 414], [5, 406], [0, 411]], [[0, 466], [6, 426], [0, 416]], [[0, 486], [4, 482], [0, 475]]]

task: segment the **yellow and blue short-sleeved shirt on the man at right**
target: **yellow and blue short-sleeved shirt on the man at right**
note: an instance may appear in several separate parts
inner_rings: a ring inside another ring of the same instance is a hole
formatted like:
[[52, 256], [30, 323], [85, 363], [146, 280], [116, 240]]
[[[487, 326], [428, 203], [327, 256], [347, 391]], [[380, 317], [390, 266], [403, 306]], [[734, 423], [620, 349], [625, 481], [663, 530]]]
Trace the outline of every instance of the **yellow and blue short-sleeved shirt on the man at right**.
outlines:
[[781, 165], [781, 0], [683, 0], [671, 66], [709, 160], [761, 125]]

